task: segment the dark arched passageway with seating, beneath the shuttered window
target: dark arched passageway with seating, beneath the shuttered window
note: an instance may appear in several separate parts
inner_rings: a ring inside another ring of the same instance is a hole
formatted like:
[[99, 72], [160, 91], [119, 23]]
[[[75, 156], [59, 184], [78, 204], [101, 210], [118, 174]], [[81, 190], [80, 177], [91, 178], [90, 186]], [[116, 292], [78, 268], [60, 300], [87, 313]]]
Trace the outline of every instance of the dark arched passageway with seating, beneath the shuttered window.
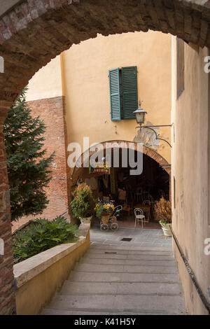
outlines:
[[[150, 214], [145, 214], [149, 219], [147, 228], [160, 228], [153, 211], [153, 202], [162, 196], [169, 200], [169, 163], [159, 153], [146, 146], [142, 146], [141, 151], [138, 151], [137, 143], [111, 141], [99, 146], [101, 151], [98, 151], [96, 146], [96, 151], [89, 150], [81, 155], [82, 167], [75, 167], [71, 176], [72, 189], [85, 182], [91, 186], [96, 199], [113, 200], [115, 207], [121, 204], [123, 211], [119, 225], [123, 228], [134, 227], [134, 209], [144, 209], [144, 201], [149, 200]], [[96, 154], [99, 169], [91, 167], [92, 155]], [[104, 170], [104, 161], [108, 158], [110, 167]], [[134, 159], [136, 167], [131, 167], [131, 158]], [[99, 225], [97, 218], [94, 218], [92, 223]]]

